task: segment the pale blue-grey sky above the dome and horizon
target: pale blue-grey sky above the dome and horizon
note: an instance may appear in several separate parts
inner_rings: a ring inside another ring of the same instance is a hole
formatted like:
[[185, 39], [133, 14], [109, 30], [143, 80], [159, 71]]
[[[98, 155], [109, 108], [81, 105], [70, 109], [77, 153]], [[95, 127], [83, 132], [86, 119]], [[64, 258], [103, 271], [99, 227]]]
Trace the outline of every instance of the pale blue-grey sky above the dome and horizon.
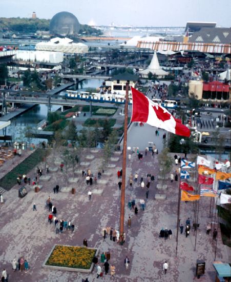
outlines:
[[187, 21], [231, 27], [231, 0], [0, 0], [0, 17], [52, 18], [73, 13], [80, 24], [182, 26]]

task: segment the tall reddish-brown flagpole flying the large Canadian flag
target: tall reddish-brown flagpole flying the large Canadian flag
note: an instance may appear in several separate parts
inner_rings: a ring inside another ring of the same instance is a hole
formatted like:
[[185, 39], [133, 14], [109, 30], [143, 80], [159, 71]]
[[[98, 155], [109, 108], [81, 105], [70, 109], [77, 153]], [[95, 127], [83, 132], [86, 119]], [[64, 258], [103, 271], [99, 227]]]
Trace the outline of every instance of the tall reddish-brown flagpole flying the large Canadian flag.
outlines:
[[129, 83], [126, 83], [125, 106], [124, 106], [124, 129], [123, 129], [123, 164], [122, 164], [122, 186], [120, 196], [120, 219], [119, 219], [119, 242], [123, 245], [124, 207], [125, 207], [125, 179], [127, 158], [127, 135], [128, 135], [128, 100]]

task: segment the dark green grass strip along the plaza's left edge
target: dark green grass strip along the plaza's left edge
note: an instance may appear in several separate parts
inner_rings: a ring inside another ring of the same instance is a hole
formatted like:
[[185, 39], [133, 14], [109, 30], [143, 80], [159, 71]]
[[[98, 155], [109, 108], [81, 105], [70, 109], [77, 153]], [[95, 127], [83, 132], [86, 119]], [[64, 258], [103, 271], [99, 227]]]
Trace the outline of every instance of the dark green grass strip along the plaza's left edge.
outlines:
[[46, 155], [46, 150], [36, 149], [30, 156], [28, 156], [22, 163], [17, 165], [11, 171], [9, 171], [3, 178], [0, 179], [0, 187], [6, 190], [10, 190], [16, 183], [18, 174], [27, 174], [32, 170], [38, 163], [40, 163], [44, 156]]

